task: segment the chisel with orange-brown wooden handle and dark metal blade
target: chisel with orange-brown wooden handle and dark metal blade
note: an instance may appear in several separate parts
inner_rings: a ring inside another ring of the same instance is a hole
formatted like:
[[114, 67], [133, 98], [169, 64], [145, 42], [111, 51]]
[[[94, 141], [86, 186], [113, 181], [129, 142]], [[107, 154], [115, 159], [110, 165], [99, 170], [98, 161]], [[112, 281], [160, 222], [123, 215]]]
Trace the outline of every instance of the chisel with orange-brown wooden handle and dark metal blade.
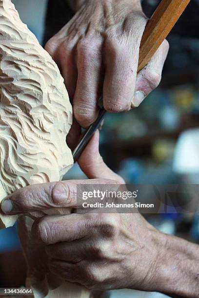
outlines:
[[[141, 39], [138, 72], [147, 65], [158, 50], [160, 44], [176, 24], [189, 2], [190, 0], [162, 0], [160, 2], [153, 16], [149, 19]], [[73, 151], [74, 162], [78, 160], [83, 149], [89, 143], [95, 131], [100, 127], [105, 113], [106, 110], [102, 107], [97, 120], [91, 124], [81, 137], [77, 147]]]

